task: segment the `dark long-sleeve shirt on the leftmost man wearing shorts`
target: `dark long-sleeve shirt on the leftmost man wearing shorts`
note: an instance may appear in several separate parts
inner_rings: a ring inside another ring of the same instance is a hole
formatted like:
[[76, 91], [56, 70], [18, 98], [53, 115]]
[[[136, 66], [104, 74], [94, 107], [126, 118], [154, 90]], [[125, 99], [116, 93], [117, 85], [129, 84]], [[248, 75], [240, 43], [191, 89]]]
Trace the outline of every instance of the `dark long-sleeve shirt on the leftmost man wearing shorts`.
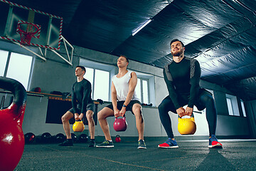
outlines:
[[76, 81], [72, 86], [72, 107], [75, 113], [78, 113], [78, 108], [81, 108], [81, 113], [86, 113], [86, 107], [88, 103], [92, 101], [92, 85], [86, 79], [82, 81]]

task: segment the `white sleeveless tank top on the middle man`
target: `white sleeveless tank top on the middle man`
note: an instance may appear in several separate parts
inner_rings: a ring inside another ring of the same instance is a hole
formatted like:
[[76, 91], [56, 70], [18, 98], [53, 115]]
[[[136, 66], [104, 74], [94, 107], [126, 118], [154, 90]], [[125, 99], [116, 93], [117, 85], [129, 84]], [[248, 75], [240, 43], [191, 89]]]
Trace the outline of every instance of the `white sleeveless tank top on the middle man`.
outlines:
[[[114, 87], [117, 91], [117, 101], [125, 101], [129, 91], [129, 80], [132, 77], [132, 71], [128, 71], [121, 78], [117, 78], [117, 75], [112, 77]], [[139, 100], [136, 91], [134, 90], [134, 95], [132, 95], [132, 100]]]

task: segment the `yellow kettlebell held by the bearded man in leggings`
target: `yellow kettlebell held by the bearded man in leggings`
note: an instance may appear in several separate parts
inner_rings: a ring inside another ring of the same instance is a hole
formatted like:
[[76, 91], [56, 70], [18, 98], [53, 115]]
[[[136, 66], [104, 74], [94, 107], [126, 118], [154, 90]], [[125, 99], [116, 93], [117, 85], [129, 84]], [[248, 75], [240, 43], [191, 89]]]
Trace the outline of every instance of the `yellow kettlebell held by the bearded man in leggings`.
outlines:
[[178, 133], [181, 135], [193, 135], [196, 133], [196, 123], [193, 114], [191, 118], [180, 118], [178, 116]]

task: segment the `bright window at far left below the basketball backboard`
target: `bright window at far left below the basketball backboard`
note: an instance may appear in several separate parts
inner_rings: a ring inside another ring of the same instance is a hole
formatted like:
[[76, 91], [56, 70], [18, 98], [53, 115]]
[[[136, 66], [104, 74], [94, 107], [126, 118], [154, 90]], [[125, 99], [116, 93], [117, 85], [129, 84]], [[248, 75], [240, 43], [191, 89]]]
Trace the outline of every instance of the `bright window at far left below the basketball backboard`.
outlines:
[[27, 90], [33, 56], [2, 50], [0, 55], [0, 76], [19, 81]]

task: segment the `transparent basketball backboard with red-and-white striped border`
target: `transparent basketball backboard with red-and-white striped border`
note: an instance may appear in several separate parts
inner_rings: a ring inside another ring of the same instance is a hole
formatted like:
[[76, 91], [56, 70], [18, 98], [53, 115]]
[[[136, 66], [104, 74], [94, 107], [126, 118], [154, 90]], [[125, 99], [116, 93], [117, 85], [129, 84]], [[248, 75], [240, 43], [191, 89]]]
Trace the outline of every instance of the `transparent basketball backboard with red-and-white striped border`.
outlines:
[[32, 23], [38, 26], [38, 33], [31, 38], [31, 46], [60, 49], [63, 18], [52, 14], [0, 0], [0, 38], [21, 43], [18, 23]]

